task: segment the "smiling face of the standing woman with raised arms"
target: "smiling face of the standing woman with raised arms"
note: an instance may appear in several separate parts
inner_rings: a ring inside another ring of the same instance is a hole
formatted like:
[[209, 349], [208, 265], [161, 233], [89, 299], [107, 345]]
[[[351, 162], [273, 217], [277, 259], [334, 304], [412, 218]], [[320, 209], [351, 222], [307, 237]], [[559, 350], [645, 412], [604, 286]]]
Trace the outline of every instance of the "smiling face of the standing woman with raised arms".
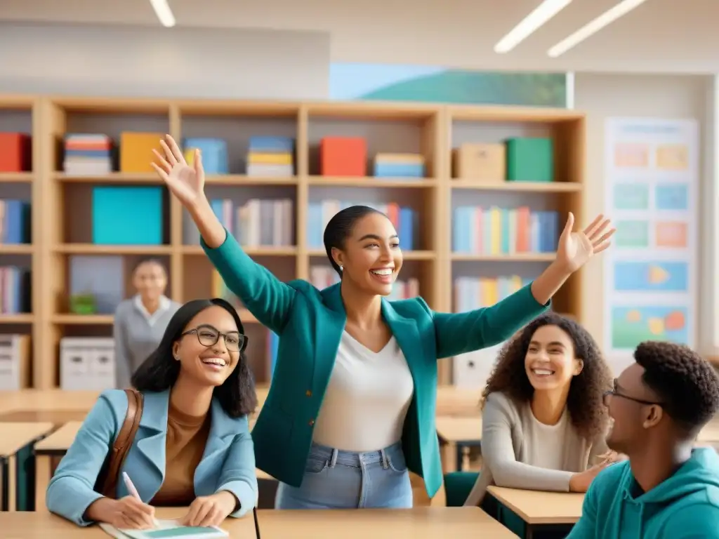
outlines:
[[389, 295], [402, 267], [397, 231], [382, 213], [357, 219], [344, 249], [333, 249], [332, 254], [344, 267], [342, 280], [373, 295]]

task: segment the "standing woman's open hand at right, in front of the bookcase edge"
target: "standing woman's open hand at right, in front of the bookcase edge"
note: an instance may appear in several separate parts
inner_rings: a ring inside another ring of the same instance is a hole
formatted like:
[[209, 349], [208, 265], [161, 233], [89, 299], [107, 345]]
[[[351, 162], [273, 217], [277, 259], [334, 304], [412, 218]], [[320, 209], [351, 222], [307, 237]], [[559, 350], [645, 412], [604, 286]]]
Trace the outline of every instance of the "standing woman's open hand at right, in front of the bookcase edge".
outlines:
[[569, 212], [567, 224], [557, 245], [557, 262], [568, 272], [576, 272], [595, 254], [610, 246], [610, 238], [616, 229], [609, 228], [611, 221], [603, 215], [597, 216], [590, 226], [581, 232], [574, 232], [574, 214]]

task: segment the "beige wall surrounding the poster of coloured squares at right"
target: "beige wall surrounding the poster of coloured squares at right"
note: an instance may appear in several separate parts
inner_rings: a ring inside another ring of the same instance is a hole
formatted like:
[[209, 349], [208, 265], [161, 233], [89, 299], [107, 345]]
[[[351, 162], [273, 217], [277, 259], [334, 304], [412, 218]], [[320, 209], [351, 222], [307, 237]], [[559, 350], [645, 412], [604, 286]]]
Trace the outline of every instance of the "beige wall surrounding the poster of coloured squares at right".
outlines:
[[[690, 75], [617, 75], [576, 73], [574, 78], [575, 109], [587, 112], [587, 192], [585, 213], [594, 216], [605, 210], [604, 190], [604, 123], [609, 116], [647, 116], [672, 119], [696, 119], [700, 137], [706, 139], [711, 114], [707, 103], [708, 88], [713, 78]], [[703, 146], [702, 146], [703, 148]], [[700, 170], [705, 170], [707, 152], [700, 155]], [[707, 198], [713, 178], [702, 175], [700, 198]], [[710, 208], [702, 207], [702, 222], [709, 221]], [[713, 248], [706, 227], [700, 235], [700, 328], [699, 348], [710, 353], [713, 336]], [[585, 270], [583, 319], [597, 339], [604, 336], [603, 264], [592, 262]], [[610, 358], [611, 359], [611, 358]]]

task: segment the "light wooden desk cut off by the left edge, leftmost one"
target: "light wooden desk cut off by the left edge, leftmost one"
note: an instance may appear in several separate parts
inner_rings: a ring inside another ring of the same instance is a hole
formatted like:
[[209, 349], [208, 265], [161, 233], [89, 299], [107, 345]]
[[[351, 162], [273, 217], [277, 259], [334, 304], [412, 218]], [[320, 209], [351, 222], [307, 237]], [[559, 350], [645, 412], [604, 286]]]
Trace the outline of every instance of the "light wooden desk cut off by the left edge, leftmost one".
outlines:
[[17, 454], [52, 430], [52, 423], [0, 423], [0, 505], [3, 511], [17, 507]]

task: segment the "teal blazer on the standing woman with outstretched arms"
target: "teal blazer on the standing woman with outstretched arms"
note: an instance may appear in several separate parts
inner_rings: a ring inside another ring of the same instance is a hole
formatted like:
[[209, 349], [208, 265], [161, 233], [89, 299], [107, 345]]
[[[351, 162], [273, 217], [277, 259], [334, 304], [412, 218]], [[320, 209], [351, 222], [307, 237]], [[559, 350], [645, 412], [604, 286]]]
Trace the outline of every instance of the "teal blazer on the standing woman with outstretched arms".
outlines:
[[[252, 438], [257, 467], [299, 487], [347, 321], [339, 284], [320, 291], [303, 280], [280, 282], [248, 257], [231, 234], [217, 249], [201, 244], [227, 287], [280, 337], [272, 384]], [[468, 313], [437, 313], [422, 298], [382, 299], [383, 318], [414, 381], [402, 436], [405, 459], [408, 468], [423, 477], [430, 497], [442, 483], [434, 424], [437, 359], [505, 341], [548, 307], [534, 299], [529, 286], [493, 307]]]

